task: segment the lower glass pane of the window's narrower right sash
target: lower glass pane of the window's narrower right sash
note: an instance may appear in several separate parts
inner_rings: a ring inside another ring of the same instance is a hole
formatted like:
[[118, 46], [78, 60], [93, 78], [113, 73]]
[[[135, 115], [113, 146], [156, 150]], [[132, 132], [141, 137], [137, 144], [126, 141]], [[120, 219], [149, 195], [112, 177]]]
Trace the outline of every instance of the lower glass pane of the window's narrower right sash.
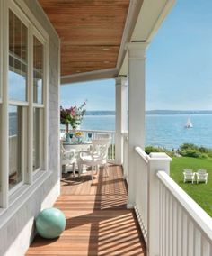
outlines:
[[36, 170], [43, 165], [43, 109], [34, 108], [33, 117], [33, 170]]

